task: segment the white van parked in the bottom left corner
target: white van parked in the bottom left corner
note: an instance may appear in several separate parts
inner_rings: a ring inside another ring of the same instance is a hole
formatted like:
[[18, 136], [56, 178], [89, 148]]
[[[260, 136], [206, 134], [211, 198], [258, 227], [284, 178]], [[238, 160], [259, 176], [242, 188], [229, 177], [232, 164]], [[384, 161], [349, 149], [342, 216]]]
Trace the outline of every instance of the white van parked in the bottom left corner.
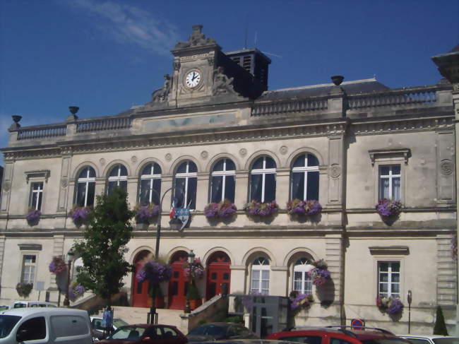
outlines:
[[68, 308], [25, 307], [0, 312], [0, 344], [93, 343], [88, 312]]

